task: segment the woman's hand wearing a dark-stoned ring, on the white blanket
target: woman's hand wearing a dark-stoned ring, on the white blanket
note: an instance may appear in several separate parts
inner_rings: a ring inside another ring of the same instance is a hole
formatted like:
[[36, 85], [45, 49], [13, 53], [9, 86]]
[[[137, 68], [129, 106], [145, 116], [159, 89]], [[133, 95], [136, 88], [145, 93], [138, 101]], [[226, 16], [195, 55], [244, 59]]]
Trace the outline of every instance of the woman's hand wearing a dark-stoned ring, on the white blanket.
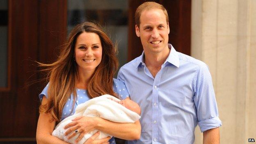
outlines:
[[82, 137], [95, 130], [96, 121], [92, 117], [76, 117], [75, 119], [72, 119], [73, 122], [67, 124], [64, 129], [69, 128], [65, 135], [69, 135], [71, 132], [71, 135], [69, 135], [68, 139], [71, 139], [74, 137], [77, 133], [75, 133], [75, 130], [78, 130], [78, 133], [80, 133], [79, 137], [75, 140], [75, 142], [79, 142]]

